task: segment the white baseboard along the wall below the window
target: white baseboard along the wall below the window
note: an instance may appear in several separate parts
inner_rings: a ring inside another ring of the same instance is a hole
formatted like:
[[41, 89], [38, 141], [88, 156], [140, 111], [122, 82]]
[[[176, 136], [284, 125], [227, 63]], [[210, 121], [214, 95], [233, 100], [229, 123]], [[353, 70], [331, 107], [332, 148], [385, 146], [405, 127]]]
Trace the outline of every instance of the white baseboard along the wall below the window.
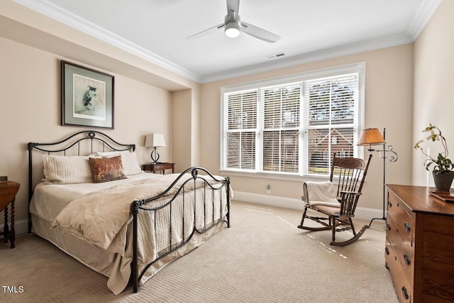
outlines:
[[[256, 204], [264, 204], [276, 207], [284, 207], [287, 209], [299, 209], [301, 211], [304, 209], [304, 204], [301, 201], [301, 199], [270, 196], [269, 194], [251, 194], [250, 192], [234, 192], [233, 200]], [[358, 206], [355, 211], [356, 219], [366, 221], [370, 221], [370, 219], [372, 218], [382, 218], [382, 216], [383, 216], [382, 209], [367, 209]]]

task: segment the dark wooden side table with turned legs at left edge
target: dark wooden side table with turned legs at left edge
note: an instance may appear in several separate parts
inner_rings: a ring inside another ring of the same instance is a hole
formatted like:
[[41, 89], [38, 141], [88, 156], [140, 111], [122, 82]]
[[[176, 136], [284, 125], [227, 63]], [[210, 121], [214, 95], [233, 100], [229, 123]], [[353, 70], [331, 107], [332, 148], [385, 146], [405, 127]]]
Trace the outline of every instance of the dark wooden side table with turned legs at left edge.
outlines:
[[[13, 181], [1, 181], [0, 182], [0, 211], [5, 211], [5, 226], [3, 233], [4, 243], [11, 242], [11, 248], [14, 248], [14, 241], [16, 240], [16, 231], [14, 231], [14, 201], [16, 200], [16, 194], [21, 187], [21, 184]], [[11, 203], [11, 230], [8, 228], [8, 205]]]

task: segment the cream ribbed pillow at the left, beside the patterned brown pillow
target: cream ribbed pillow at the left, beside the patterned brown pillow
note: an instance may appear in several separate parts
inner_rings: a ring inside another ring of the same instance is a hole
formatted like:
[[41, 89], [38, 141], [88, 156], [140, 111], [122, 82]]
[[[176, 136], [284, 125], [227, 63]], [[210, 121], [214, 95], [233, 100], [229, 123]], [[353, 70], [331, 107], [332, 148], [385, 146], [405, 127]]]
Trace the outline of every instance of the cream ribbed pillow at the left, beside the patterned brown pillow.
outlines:
[[43, 155], [46, 184], [72, 184], [93, 182], [88, 157]]

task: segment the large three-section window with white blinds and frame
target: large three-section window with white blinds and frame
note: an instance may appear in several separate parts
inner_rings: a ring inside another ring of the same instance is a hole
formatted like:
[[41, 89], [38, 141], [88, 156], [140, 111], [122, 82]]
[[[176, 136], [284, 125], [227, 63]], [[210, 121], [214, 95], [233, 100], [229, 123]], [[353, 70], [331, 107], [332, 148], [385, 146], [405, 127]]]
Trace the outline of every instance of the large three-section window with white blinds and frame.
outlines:
[[364, 64], [221, 89], [221, 170], [328, 175], [358, 157]]

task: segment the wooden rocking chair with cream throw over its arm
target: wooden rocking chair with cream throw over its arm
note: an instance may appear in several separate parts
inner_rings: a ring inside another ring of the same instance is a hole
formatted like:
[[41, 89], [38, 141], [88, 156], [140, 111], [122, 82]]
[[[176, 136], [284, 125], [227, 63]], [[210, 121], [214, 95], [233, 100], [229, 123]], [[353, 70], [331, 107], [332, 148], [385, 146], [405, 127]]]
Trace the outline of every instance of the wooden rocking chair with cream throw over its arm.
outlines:
[[[367, 229], [367, 225], [356, 233], [352, 218], [355, 216], [356, 205], [361, 195], [362, 184], [364, 183], [367, 168], [369, 167], [369, 156], [367, 163], [359, 158], [336, 158], [333, 155], [333, 166], [328, 182], [304, 182], [303, 196], [305, 203], [303, 218], [298, 228], [308, 231], [326, 231], [331, 229], [333, 233], [332, 246], [346, 246], [357, 241]], [[337, 191], [333, 184], [333, 175], [338, 176]], [[317, 211], [324, 216], [309, 216], [307, 210]], [[303, 226], [304, 219], [311, 219], [322, 227]], [[336, 242], [336, 232], [351, 229], [353, 238], [348, 241]]]

